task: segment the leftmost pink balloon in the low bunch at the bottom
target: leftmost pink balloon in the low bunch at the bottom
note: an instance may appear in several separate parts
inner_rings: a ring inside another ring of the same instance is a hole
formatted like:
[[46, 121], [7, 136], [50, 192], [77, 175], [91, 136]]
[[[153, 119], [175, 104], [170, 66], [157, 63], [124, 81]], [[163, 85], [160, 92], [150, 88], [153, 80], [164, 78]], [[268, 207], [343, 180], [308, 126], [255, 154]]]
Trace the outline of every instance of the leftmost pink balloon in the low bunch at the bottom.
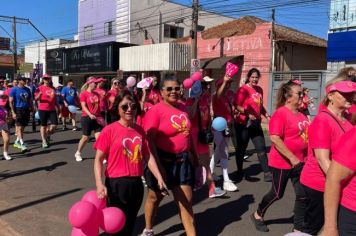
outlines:
[[76, 228], [83, 228], [87, 224], [96, 222], [96, 207], [86, 201], [75, 203], [69, 210], [68, 218], [71, 225]]

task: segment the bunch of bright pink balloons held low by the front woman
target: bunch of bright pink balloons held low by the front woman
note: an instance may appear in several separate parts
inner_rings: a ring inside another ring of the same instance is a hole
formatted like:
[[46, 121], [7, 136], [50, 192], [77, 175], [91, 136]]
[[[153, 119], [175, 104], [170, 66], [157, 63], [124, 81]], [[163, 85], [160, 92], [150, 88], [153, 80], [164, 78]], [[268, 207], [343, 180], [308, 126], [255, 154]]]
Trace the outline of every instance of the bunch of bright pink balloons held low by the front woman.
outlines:
[[126, 216], [116, 207], [106, 207], [106, 200], [99, 199], [95, 190], [84, 194], [68, 214], [73, 226], [71, 236], [98, 236], [99, 227], [106, 233], [119, 232], [125, 225]]

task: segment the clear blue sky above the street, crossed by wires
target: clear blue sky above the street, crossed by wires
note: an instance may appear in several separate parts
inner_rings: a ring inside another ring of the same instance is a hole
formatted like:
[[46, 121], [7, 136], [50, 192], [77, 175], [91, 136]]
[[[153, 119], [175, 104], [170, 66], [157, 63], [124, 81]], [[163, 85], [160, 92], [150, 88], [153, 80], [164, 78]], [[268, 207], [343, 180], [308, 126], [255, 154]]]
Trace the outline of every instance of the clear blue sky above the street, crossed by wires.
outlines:
[[[0, 1], [1, 16], [30, 19], [48, 38], [58, 38], [58, 35], [62, 35], [62, 38], [70, 38], [77, 32], [77, 0]], [[174, 1], [187, 5], [191, 5], [192, 2], [192, 0]], [[291, 4], [286, 6], [284, 4], [286, 2]], [[253, 15], [268, 21], [271, 20], [270, 6], [273, 5], [276, 6], [277, 24], [327, 38], [330, 0], [200, 0], [200, 4], [203, 9], [218, 10], [228, 16], [238, 18], [243, 15]], [[0, 21], [1, 37], [7, 37], [4, 30], [12, 34], [11, 23]], [[41, 36], [30, 25], [17, 24], [17, 38], [18, 47], [21, 48], [40, 40]]]

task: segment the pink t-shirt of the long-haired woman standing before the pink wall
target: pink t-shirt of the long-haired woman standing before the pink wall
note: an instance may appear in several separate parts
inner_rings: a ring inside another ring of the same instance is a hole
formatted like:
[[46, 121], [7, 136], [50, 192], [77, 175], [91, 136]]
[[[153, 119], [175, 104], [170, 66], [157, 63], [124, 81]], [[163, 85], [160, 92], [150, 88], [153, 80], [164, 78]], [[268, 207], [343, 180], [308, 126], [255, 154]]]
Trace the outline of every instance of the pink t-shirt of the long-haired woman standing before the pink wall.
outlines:
[[[235, 96], [235, 105], [241, 106], [248, 114], [254, 115], [258, 120], [261, 119], [263, 109], [263, 90], [260, 86], [250, 87], [245, 84], [239, 88]], [[248, 116], [240, 114], [236, 120], [240, 124], [246, 124]]]

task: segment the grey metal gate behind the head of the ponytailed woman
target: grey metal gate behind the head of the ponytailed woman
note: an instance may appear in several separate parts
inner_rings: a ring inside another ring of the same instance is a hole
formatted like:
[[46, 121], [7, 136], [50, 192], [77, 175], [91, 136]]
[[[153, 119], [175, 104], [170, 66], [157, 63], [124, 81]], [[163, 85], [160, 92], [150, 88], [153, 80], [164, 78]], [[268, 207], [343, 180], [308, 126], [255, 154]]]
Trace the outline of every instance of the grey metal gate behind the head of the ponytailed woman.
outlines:
[[309, 109], [309, 111], [310, 115], [314, 117], [318, 112], [319, 103], [324, 96], [326, 71], [272, 72], [269, 80], [268, 112], [272, 114], [276, 109], [276, 95], [281, 84], [291, 79], [298, 79], [303, 83], [303, 87], [309, 88], [309, 97], [314, 98], [315, 106], [315, 109]]

